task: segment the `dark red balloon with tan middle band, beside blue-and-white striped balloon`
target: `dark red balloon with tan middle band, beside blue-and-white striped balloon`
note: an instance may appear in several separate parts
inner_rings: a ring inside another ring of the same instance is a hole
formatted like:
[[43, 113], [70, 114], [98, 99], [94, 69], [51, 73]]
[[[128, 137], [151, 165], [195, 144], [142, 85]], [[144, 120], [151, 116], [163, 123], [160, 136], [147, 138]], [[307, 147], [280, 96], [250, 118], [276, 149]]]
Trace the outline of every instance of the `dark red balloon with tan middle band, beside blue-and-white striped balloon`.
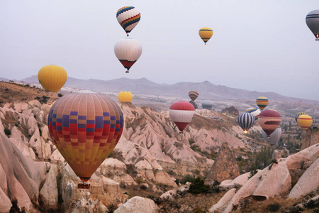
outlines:
[[269, 137], [281, 123], [280, 114], [272, 109], [262, 111], [259, 114], [258, 119], [259, 125], [262, 127], [264, 132], [267, 133], [267, 137]]

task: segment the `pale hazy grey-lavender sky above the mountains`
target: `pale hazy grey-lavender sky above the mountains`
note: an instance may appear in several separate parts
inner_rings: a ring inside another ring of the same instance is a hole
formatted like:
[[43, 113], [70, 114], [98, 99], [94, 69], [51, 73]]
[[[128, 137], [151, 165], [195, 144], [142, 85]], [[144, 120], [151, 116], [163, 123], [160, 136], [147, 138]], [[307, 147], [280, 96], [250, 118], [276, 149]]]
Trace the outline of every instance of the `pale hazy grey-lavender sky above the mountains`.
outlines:
[[[142, 55], [125, 74], [116, 20], [135, 6], [130, 33]], [[70, 77], [203, 82], [319, 100], [319, 41], [306, 26], [318, 0], [0, 1], [0, 77], [21, 80], [44, 65]], [[213, 29], [204, 45], [198, 30]], [[196, 88], [192, 88], [196, 89]]]

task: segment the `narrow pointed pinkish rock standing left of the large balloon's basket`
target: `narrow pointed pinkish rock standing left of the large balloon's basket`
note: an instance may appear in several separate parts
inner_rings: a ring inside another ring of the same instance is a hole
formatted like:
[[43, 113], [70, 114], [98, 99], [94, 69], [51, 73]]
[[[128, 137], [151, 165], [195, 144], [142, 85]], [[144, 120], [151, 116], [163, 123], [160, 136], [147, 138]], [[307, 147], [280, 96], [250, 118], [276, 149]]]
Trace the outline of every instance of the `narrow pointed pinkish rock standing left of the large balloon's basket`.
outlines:
[[40, 190], [40, 198], [43, 201], [43, 206], [46, 209], [56, 209], [58, 192], [57, 192], [57, 173], [55, 172], [56, 165], [51, 165], [49, 173], [45, 178], [45, 184]]

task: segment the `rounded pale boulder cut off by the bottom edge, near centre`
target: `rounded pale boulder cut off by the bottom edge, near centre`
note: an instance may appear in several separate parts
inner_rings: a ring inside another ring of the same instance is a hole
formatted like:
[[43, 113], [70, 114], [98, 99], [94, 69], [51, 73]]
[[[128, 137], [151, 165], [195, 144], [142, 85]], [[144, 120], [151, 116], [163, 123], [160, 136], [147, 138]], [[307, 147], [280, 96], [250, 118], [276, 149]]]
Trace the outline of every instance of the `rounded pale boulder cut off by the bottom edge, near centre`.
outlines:
[[153, 200], [145, 197], [132, 197], [128, 202], [121, 205], [114, 213], [156, 213], [159, 207]]

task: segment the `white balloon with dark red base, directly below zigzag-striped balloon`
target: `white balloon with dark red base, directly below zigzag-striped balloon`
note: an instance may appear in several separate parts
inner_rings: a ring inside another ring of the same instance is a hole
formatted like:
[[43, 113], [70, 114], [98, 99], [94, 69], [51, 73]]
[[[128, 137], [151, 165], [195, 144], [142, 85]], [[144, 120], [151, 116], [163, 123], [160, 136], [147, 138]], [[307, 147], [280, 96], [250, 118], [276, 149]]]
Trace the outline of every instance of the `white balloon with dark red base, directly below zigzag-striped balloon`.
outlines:
[[142, 45], [133, 38], [122, 38], [114, 46], [114, 53], [122, 65], [128, 70], [142, 55]]

